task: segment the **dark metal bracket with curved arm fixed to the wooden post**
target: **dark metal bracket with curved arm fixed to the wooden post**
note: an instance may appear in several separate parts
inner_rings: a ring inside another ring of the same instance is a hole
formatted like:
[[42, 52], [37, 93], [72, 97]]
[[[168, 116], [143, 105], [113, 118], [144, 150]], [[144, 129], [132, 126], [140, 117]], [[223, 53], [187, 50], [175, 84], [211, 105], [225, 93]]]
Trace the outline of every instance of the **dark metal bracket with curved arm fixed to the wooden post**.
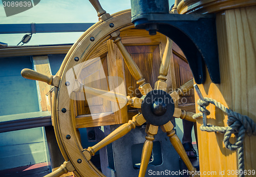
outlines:
[[215, 15], [169, 14], [169, 11], [163, 12], [162, 9], [159, 9], [160, 13], [154, 9], [152, 12], [147, 10], [148, 13], [137, 14], [145, 11], [143, 3], [138, 6], [138, 2], [143, 1], [131, 0], [132, 23], [135, 27], [146, 29], [151, 35], [158, 31], [177, 43], [186, 56], [196, 83], [205, 81], [205, 64], [212, 82], [220, 83]]

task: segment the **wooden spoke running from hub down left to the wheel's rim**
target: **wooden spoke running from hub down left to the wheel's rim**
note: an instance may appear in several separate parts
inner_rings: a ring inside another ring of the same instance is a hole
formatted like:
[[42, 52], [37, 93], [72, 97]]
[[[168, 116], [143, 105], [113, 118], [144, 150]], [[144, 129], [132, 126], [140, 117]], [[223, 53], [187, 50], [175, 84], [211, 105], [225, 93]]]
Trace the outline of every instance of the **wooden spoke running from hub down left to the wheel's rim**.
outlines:
[[106, 136], [103, 140], [99, 143], [95, 144], [92, 147], [88, 147], [88, 149], [84, 149], [83, 154], [86, 156], [87, 160], [91, 159], [91, 156], [94, 156], [95, 152], [97, 152], [102, 147], [116, 141], [117, 139], [126, 135], [132, 128], [136, 126], [140, 126], [145, 123], [146, 120], [142, 116], [142, 114], [137, 114], [133, 117], [133, 120], [129, 120], [128, 123], [125, 123], [119, 126], [117, 129], [111, 132], [110, 135]]

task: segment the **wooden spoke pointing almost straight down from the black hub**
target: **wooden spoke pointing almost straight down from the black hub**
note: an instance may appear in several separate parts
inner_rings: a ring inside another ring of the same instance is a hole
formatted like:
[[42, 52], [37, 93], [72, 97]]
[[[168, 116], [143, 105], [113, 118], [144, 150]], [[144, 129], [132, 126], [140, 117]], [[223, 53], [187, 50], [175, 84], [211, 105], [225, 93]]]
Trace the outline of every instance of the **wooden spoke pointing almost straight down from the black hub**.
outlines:
[[157, 134], [158, 126], [147, 124], [146, 126], [146, 141], [144, 142], [142, 154], [141, 154], [141, 162], [140, 162], [140, 172], [139, 177], [145, 176], [146, 174], [146, 168], [148, 165], [148, 162], [150, 162], [150, 157], [152, 153], [153, 148], [153, 141], [154, 136]]

